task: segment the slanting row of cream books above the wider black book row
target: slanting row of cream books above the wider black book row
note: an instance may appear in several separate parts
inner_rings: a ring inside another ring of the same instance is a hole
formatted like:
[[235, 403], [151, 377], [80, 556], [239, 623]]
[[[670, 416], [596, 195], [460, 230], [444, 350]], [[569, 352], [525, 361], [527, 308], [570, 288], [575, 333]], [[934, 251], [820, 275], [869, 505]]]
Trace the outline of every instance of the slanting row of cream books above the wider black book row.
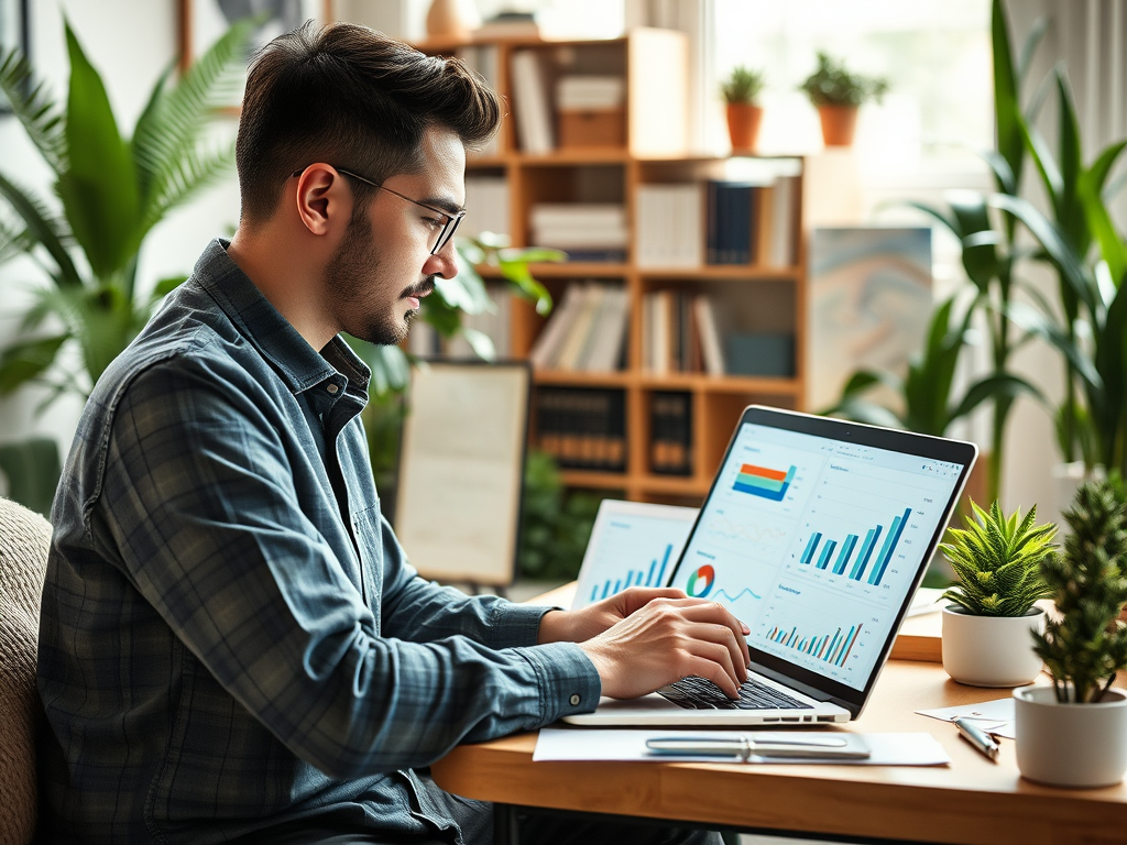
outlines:
[[543, 370], [622, 370], [629, 310], [629, 295], [622, 285], [573, 283], [536, 338], [529, 359]]

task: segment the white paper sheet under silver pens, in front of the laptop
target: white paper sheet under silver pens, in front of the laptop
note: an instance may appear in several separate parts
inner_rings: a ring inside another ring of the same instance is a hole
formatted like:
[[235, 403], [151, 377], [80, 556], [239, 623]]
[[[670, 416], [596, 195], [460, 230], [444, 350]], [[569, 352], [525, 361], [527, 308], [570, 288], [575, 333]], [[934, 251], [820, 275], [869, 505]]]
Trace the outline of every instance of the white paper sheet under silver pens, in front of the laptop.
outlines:
[[[700, 737], [701, 739], [719, 737], [739, 737], [740, 733], [752, 735], [754, 731], [685, 731], [685, 730], [603, 730], [598, 728], [542, 728], [536, 740], [536, 750], [532, 759], [541, 760], [625, 760], [647, 763], [726, 763], [719, 757], [689, 757], [678, 755], [676, 758], [650, 754], [646, 749], [646, 740], [657, 737]], [[814, 736], [807, 731], [793, 733], [795, 737]], [[943, 746], [930, 733], [864, 733], [871, 756], [868, 759], [815, 759], [753, 757], [752, 763], [788, 763], [795, 764], [834, 764], [853, 766], [942, 766], [951, 762]]]

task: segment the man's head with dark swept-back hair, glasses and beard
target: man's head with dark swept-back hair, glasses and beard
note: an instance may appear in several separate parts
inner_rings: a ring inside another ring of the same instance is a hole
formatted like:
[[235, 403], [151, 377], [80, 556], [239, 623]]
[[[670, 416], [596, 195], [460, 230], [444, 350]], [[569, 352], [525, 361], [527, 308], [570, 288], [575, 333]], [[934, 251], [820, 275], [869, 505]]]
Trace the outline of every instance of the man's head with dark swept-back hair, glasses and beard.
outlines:
[[434, 277], [456, 272], [465, 148], [499, 122], [497, 96], [456, 60], [346, 24], [281, 36], [248, 73], [232, 248], [246, 258], [270, 233], [275, 257], [316, 276], [275, 297], [311, 343], [340, 329], [397, 343]]

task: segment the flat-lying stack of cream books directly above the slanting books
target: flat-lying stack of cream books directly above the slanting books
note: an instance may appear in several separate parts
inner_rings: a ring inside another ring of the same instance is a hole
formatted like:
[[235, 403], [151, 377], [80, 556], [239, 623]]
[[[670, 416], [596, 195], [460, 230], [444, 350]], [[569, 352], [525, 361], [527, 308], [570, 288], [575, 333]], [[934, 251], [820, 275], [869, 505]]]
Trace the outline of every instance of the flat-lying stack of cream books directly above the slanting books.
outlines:
[[624, 261], [627, 210], [615, 203], [539, 203], [529, 213], [532, 242], [562, 249], [573, 261]]

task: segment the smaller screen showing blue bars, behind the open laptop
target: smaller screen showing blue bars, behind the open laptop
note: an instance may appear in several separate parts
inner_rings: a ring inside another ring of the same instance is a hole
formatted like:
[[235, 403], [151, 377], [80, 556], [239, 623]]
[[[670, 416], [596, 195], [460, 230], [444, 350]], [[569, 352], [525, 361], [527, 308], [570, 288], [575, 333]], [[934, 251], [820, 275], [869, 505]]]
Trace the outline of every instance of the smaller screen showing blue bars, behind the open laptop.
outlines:
[[685, 548], [696, 508], [603, 499], [579, 567], [571, 610], [628, 587], [664, 587]]

